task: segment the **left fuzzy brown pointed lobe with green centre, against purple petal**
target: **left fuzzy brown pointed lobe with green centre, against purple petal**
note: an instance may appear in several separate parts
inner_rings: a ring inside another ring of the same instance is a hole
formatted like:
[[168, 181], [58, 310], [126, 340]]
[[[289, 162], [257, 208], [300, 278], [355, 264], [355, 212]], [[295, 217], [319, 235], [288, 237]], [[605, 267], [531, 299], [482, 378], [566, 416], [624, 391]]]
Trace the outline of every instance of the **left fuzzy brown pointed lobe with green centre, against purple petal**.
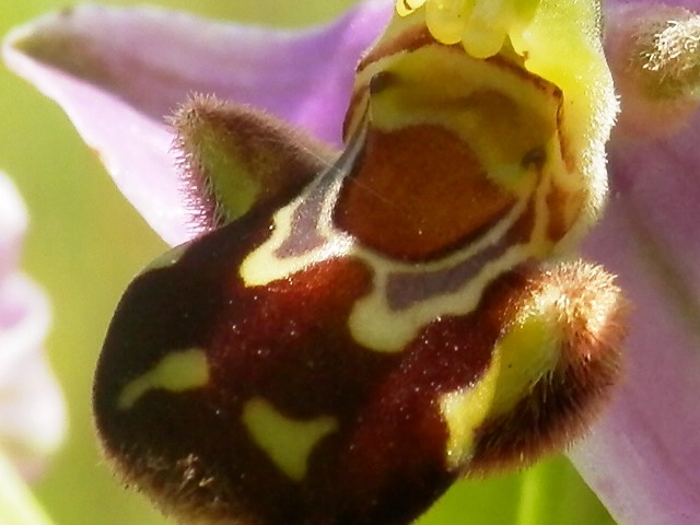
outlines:
[[331, 148], [259, 109], [210, 95], [191, 97], [170, 124], [197, 232], [222, 226], [248, 211], [228, 201], [218, 182], [247, 178], [258, 188], [254, 202], [280, 205], [337, 156]]

